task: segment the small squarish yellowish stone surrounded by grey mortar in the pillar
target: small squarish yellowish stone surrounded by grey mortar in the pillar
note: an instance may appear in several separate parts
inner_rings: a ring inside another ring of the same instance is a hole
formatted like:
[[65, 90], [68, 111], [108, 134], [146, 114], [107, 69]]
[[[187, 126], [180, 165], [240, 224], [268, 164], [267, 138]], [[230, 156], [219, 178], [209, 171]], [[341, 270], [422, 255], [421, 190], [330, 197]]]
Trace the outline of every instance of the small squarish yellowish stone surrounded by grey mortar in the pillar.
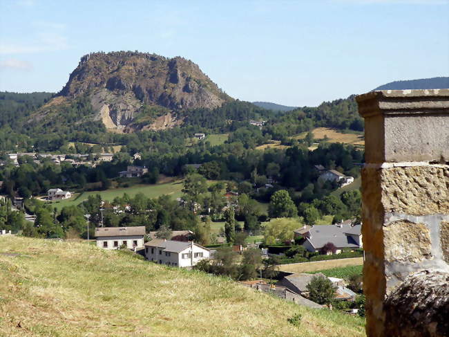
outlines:
[[432, 257], [432, 243], [425, 224], [394, 221], [383, 230], [385, 261], [402, 264], [421, 262]]

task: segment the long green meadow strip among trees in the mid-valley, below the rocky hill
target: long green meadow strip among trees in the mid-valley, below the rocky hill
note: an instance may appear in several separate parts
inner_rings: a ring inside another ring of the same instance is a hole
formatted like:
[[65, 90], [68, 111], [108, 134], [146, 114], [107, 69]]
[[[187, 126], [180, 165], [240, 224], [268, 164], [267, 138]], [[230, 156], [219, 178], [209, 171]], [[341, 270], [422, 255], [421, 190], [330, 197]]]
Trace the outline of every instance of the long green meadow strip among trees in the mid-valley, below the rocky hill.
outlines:
[[72, 198], [55, 201], [54, 206], [61, 210], [64, 206], [78, 205], [86, 200], [90, 195], [99, 194], [103, 200], [113, 201], [115, 197], [122, 197], [124, 193], [130, 197], [134, 197], [137, 193], [143, 193], [146, 197], [157, 198], [162, 194], [167, 194], [172, 198], [178, 198], [182, 192], [182, 181], [175, 181], [171, 183], [161, 183], [155, 185], [133, 185], [129, 188], [113, 188], [106, 191], [92, 191], [75, 194]]

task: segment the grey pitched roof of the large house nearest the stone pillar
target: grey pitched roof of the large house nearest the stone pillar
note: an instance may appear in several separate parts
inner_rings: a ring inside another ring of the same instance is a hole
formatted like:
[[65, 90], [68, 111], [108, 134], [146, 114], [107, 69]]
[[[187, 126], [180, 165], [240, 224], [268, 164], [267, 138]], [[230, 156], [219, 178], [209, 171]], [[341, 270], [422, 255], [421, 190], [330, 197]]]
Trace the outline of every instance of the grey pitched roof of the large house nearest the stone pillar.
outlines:
[[332, 242], [336, 248], [359, 248], [359, 244], [350, 236], [357, 235], [356, 233], [361, 234], [361, 225], [318, 225], [310, 228], [307, 241], [315, 249], [322, 248], [327, 242]]

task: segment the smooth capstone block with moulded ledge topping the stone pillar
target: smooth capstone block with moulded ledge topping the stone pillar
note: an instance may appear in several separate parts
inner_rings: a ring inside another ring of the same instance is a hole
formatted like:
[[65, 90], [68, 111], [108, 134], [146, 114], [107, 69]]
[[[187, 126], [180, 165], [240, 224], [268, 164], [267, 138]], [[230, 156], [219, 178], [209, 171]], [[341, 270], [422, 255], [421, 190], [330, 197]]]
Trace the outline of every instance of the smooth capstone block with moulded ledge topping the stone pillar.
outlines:
[[356, 100], [367, 163], [449, 161], [449, 89], [373, 91]]

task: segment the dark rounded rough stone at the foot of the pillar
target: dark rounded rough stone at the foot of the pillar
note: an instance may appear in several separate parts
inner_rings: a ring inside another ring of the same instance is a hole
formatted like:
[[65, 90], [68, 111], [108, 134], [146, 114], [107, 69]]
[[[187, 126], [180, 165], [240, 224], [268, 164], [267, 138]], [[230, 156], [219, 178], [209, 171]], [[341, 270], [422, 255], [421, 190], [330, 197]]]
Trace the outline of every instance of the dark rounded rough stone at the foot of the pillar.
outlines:
[[383, 336], [449, 336], [449, 274], [409, 275], [385, 300]]

